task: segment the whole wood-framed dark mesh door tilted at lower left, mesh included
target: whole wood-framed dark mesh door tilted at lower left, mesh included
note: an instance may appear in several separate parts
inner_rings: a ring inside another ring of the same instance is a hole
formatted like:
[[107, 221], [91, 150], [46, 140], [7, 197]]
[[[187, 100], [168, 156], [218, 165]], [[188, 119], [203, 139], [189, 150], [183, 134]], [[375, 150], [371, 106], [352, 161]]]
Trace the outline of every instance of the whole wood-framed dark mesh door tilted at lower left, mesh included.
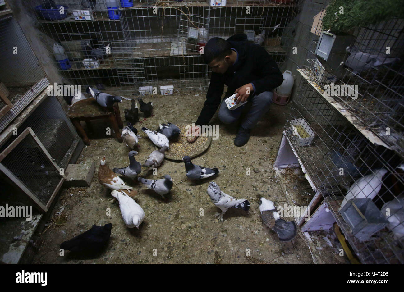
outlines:
[[48, 207], [63, 180], [58, 166], [27, 128], [0, 155], [0, 166], [10, 179], [23, 189], [43, 211]]

